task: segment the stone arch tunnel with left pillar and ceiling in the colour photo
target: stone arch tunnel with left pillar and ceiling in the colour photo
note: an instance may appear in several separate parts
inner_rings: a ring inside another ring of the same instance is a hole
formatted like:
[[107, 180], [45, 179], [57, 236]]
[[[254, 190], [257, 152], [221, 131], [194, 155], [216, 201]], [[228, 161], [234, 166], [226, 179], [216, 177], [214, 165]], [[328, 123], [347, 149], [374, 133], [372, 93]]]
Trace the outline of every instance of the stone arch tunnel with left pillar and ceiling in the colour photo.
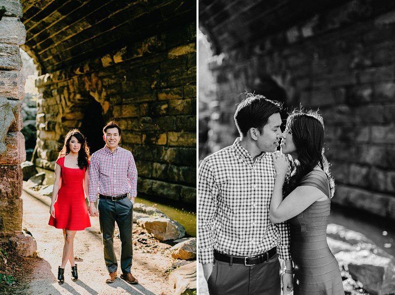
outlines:
[[0, 232], [18, 234], [22, 224], [19, 47], [41, 75], [36, 166], [54, 169], [71, 128], [85, 132], [92, 151], [103, 147], [101, 129], [116, 120], [120, 146], [136, 160], [139, 195], [196, 204], [196, 2], [0, 0], [1, 6]]

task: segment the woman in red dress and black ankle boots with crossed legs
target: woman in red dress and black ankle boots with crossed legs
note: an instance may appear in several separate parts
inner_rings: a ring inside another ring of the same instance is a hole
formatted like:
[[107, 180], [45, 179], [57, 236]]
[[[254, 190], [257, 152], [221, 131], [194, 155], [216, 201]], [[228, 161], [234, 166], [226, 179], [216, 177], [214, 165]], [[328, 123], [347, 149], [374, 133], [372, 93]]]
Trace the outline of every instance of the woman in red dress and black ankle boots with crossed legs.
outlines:
[[64, 283], [67, 260], [72, 268], [72, 280], [78, 280], [77, 264], [74, 261], [73, 243], [78, 230], [90, 227], [85, 203], [88, 195], [89, 148], [85, 137], [78, 129], [70, 130], [63, 149], [55, 164], [55, 183], [49, 213], [49, 225], [63, 229], [65, 245], [62, 264], [58, 267], [58, 283]]

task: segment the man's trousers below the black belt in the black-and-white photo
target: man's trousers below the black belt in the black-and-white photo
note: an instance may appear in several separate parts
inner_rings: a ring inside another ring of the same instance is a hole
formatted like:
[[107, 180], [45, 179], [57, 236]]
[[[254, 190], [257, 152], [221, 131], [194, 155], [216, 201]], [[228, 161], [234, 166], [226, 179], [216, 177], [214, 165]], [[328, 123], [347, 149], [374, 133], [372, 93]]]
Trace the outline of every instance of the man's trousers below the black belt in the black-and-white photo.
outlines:
[[252, 266], [215, 261], [207, 285], [210, 295], [280, 295], [278, 256]]

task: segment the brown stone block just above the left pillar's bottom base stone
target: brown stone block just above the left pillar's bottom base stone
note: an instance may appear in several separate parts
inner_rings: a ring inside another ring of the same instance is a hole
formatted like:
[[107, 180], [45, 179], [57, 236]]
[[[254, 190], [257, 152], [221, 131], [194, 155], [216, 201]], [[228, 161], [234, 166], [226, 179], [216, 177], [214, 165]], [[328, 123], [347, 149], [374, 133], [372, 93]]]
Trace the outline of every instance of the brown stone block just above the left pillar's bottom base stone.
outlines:
[[21, 198], [0, 199], [0, 232], [5, 237], [22, 231], [23, 203]]

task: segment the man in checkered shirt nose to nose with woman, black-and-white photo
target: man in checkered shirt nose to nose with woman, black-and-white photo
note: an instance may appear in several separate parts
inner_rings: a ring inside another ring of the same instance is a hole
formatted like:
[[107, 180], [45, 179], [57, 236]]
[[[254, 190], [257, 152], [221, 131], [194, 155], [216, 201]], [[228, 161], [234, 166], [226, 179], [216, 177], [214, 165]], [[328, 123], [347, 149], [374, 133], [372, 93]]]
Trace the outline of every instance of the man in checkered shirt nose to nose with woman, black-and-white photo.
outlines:
[[[199, 168], [199, 261], [211, 295], [279, 295], [278, 257], [292, 269], [288, 226], [269, 218], [281, 106], [243, 94], [235, 113], [240, 137]], [[293, 289], [292, 278], [283, 274], [283, 290]]]

